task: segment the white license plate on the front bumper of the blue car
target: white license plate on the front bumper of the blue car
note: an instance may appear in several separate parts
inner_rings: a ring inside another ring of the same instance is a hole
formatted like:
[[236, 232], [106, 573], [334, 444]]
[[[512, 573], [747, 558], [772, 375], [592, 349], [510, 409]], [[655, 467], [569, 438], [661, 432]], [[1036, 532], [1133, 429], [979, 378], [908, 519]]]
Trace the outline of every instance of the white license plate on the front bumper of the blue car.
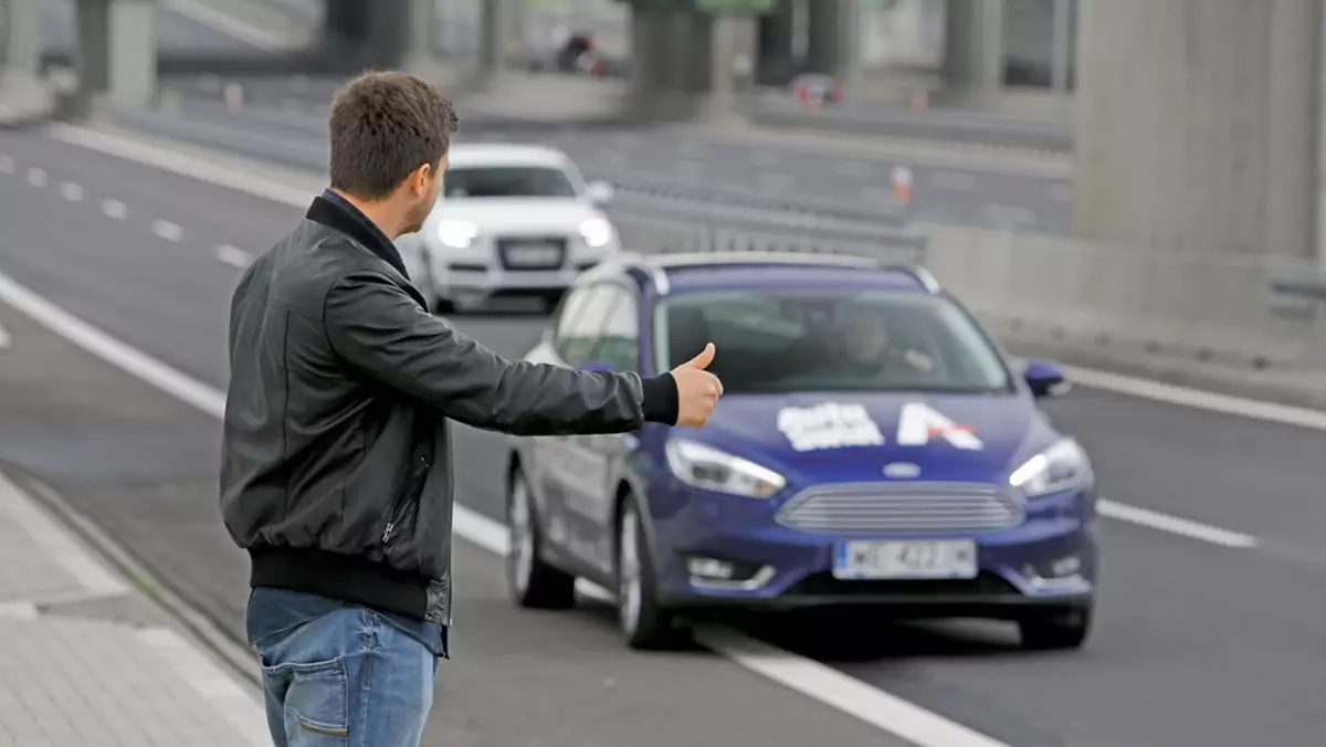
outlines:
[[975, 578], [972, 540], [851, 540], [834, 548], [834, 578]]

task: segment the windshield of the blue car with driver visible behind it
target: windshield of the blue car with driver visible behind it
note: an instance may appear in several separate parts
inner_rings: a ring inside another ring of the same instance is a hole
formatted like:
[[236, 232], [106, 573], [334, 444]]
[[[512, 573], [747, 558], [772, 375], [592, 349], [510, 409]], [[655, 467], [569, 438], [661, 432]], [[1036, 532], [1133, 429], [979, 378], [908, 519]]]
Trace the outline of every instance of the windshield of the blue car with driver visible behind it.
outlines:
[[948, 299], [886, 289], [682, 293], [654, 317], [658, 361], [717, 346], [728, 393], [1013, 391], [1000, 354]]

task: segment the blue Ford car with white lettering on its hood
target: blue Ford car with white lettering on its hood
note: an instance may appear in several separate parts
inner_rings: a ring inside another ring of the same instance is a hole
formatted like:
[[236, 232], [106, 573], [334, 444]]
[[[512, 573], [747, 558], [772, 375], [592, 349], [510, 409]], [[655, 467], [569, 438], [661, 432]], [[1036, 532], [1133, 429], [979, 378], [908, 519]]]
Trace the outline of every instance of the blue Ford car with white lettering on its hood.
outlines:
[[1079, 647], [1095, 598], [1095, 484], [1038, 401], [923, 268], [792, 253], [619, 256], [586, 273], [529, 361], [668, 370], [712, 341], [703, 429], [511, 439], [516, 602], [614, 589], [633, 647], [688, 612], [879, 605], [1014, 621]]

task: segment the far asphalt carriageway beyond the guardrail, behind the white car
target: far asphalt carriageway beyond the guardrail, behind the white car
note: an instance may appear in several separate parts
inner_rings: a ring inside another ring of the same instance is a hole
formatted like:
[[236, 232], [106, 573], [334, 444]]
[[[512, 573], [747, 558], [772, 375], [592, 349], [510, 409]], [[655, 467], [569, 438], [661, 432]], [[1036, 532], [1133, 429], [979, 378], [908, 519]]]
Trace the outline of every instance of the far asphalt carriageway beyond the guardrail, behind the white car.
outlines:
[[[294, 78], [252, 82], [248, 105], [229, 113], [221, 105], [224, 81], [196, 80], [176, 113], [125, 114], [133, 126], [155, 134], [221, 146], [245, 155], [301, 167], [325, 169], [326, 114], [300, 100], [282, 100], [284, 89], [321, 92], [325, 81]], [[330, 92], [310, 94], [313, 97]], [[282, 103], [284, 101], [284, 103]], [[461, 106], [461, 115], [467, 110]], [[859, 151], [817, 145], [802, 138], [754, 141], [695, 127], [587, 127], [577, 125], [513, 125], [483, 113], [463, 119], [463, 141], [521, 141], [565, 150], [590, 178], [648, 175], [675, 184], [744, 190], [777, 199], [806, 200], [843, 210], [891, 210], [892, 171], [914, 172], [914, 214], [920, 220], [1066, 234], [1071, 214], [1071, 182], [1045, 169], [973, 167], [953, 157]]]

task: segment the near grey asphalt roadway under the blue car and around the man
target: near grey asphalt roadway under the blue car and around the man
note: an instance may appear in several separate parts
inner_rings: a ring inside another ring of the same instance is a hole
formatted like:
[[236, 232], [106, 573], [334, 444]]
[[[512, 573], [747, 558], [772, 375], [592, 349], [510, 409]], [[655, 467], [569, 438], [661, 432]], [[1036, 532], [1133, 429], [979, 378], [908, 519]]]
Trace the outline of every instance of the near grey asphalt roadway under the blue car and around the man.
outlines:
[[[40, 134], [0, 134], [0, 272], [216, 387], [239, 273], [216, 247], [261, 251], [296, 216]], [[541, 320], [456, 324], [518, 356]], [[16, 337], [0, 354], [21, 356], [32, 330], [12, 314], [0, 325]], [[64, 373], [4, 399], [0, 459], [72, 494], [188, 598], [237, 624], [243, 561], [216, 524], [215, 423], [86, 358], [52, 358], [44, 370]], [[979, 624], [831, 620], [751, 633], [1018, 747], [1319, 743], [1326, 559], [1315, 540], [1326, 512], [1315, 467], [1326, 434], [1085, 389], [1050, 409], [1094, 455], [1110, 499], [1246, 532], [1258, 545], [1107, 521], [1098, 629], [1082, 653], [1026, 654], [1010, 630]], [[488, 516], [501, 504], [496, 446], [457, 433], [460, 500]], [[507, 731], [492, 743], [504, 744], [880, 743], [712, 657], [625, 654], [601, 612], [516, 613], [500, 598], [493, 559], [463, 552], [461, 563], [457, 662], [444, 669], [456, 685], [439, 707], [447, 728], [472, 740], [496, 728]], [[578, 742], [540, 740], [540, 730]]]

